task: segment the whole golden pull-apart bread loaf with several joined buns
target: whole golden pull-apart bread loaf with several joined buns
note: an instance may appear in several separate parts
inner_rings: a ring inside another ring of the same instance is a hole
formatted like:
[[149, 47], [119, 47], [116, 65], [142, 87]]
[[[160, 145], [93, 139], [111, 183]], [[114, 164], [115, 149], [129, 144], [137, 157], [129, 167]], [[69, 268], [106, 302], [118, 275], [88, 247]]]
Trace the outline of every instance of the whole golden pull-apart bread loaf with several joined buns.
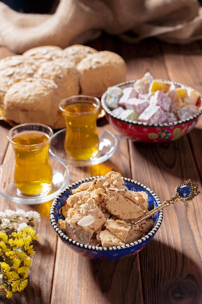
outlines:
[[100, 98], [125, 80], [126, 64], [116, 53], [82, 45], [33, 48], [0, 60], [0, 119], [64, 128], [60, 100], [79, 94]]

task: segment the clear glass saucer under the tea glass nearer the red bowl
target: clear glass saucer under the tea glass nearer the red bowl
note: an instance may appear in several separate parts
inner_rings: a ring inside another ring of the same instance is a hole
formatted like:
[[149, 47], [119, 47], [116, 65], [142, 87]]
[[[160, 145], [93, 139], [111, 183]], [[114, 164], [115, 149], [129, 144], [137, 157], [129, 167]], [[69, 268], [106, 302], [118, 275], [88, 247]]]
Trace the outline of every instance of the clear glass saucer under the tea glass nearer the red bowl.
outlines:
[[50, 153], [56, 159], [64, 162], [66, 165], [77, 167], [98, 165], [109, 159], [115, 152], [118, 144], [116, 136], [104, 128], [97, 128], [100, 144], [99, 153], [91, 160], [72, 160], [64, 150], [65, 129], [62, 129], [53, 135], [50, 144]]

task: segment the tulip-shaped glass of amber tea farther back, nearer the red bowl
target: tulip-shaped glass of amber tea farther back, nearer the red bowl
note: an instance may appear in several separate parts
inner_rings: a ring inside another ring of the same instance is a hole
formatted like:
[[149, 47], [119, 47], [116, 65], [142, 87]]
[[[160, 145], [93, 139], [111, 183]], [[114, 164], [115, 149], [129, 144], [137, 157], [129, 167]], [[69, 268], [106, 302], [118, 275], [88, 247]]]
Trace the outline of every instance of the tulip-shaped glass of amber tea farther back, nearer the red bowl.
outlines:
[[91, 96], [71, 96], [59, 103], [65, 120], [64, 149], [72, 160], [90, 160], [98, 155], [97, 115], [100, 101]]

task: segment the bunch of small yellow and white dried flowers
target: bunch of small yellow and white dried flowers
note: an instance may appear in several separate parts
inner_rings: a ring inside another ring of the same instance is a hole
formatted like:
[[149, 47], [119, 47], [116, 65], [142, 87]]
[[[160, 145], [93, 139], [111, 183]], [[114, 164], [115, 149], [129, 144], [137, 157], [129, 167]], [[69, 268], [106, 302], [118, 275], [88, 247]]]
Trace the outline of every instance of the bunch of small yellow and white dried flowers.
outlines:
[[0, 294], [10, 299], [28, 284], [40, 215], [35, 211], [0, 212]]

